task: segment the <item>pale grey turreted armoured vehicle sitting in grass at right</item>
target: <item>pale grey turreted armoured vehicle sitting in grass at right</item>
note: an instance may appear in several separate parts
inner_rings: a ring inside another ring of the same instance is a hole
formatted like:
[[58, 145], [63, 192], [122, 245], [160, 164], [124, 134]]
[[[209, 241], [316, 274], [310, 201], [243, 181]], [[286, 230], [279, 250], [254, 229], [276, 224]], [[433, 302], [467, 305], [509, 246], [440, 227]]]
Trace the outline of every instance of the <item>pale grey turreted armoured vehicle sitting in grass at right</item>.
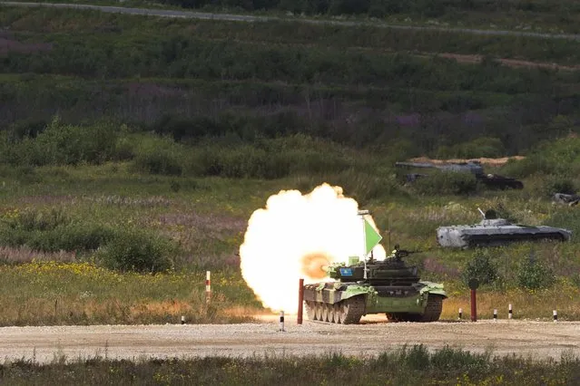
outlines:
[[505, 218], [496, 217], [494, 210], [488, 210], [485, 214], [478, 210], [484, 217], [478, 224], [438, 227], [438, 245], [458, 248], [501, 246], [516, 241], [568, 241], [572, 237], [572, 232], [564, 228], [513, 224]]

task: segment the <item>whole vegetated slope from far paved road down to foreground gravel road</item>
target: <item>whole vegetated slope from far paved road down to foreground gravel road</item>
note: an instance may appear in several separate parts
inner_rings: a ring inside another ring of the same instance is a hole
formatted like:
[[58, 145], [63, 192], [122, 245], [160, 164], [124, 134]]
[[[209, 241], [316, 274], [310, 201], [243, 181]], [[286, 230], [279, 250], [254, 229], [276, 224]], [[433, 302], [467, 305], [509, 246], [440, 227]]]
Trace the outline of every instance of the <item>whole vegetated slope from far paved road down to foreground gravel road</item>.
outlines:
[[[487, 252], [434, 237], [477, 207], [578, 235], [577, 209], [550, 201], [580, 182], [577, 41], [1, 10], [0, 323], [242, 320], [260, 308], [236, 256], [247, 219], [282, 188], [322, 182], [423, 251], [411, 262], [446, 283], [444, 317], [467, 309], [469, 273], [486, 282], [484, 317], [517, 302], [518, 317], [580, 318], [577, 236]], [[393, 168], [515, 154], [491, 171], [524, 179], [519, 191], [437, 173], [409, 186]]]

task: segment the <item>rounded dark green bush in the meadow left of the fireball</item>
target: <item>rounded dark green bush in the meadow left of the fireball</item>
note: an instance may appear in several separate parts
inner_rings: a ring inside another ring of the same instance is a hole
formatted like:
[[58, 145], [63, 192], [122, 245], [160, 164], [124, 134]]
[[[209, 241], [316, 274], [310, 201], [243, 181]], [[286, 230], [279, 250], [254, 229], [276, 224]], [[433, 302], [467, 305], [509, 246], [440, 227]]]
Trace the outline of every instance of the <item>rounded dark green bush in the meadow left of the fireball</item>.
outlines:
[[172, 244], [154, 234], [128, 229], [117, 234], [96, 256], [104, 266], [117, 271], [157, 273], [172, 268]]

